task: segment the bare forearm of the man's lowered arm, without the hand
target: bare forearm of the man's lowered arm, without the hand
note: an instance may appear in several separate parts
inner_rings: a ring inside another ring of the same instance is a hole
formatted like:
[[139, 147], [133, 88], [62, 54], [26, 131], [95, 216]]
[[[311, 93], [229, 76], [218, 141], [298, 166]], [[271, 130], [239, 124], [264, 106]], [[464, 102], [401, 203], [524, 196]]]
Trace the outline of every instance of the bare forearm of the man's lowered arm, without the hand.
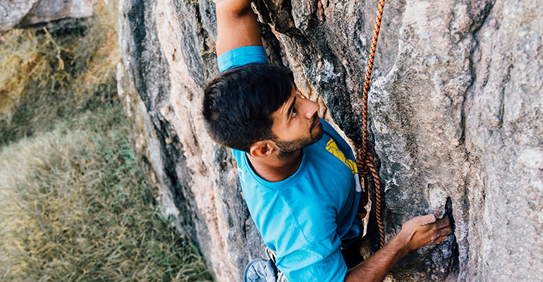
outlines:
[[408, 247], [401, 236], [396, 235], [381, 250], [347, 272], [346, 282], [383, 281], [398, 261], [407, 255]]

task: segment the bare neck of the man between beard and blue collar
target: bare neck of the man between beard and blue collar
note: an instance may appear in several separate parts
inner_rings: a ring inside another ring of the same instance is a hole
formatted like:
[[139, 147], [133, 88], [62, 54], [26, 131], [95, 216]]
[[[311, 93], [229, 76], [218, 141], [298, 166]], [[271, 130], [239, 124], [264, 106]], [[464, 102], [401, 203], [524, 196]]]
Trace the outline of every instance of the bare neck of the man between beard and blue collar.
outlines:
[[247, 159], [252, 169], [260, 178], [269, 182], [278, 182], [291, 177], [302, 164], [302, 150], [292, 152], [288, 156], [277, 157], [276, 155], [264, 158], [252, 157], [247, 154]]

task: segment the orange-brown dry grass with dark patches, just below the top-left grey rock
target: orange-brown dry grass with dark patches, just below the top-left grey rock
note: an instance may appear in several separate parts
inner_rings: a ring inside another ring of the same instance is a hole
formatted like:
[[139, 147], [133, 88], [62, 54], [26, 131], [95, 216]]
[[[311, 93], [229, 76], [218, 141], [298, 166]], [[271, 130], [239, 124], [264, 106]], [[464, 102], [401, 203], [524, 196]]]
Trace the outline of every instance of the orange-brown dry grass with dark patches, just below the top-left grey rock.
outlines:
[[86, 28], [0, 35], [0, 145], [116, 99], [116, 17], [109, 2], [108, 9], [99, 1]]

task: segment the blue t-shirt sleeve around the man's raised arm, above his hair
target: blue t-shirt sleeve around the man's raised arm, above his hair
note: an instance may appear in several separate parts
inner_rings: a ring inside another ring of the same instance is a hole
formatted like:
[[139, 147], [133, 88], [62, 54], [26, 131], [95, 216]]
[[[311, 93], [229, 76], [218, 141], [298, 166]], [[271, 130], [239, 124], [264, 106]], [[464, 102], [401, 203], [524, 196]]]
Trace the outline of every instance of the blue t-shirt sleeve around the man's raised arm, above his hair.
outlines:
[[231, 49], [217, 58], [219, 71], [222, 73], [228, 68], [243, 66], [248, 63], [268, 64], [266, 49], [262, 46], [245, 46]]

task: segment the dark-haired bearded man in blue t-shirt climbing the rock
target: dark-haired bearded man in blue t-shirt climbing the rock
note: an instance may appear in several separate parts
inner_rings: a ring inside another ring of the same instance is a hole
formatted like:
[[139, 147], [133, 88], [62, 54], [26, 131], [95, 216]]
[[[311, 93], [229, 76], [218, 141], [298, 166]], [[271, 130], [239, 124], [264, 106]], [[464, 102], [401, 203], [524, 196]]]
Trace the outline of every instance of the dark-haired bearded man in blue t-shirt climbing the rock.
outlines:
[[249, 212], [288, 281], [382, 281], [410, 250], [446, 239], [447, 219], [417, 216], [348, 269], [341, 246], [360, 235], [353, 152], [297, 94], [291, 71], [269, 66], [249, 0], [217, 0], [216, 17], [221, 73], [202, 115], [209, 135], [232, 148]]

